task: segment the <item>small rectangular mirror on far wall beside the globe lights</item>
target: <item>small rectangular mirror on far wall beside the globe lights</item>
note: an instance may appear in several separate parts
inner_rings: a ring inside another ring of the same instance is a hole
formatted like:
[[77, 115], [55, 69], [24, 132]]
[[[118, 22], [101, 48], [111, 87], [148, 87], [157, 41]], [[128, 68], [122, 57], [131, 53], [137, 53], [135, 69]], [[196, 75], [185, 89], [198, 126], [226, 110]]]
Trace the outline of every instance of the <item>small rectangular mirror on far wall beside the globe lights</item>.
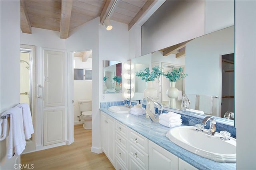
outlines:
[[121, 93], [122, 63], [103, 61], [103, 94]]

